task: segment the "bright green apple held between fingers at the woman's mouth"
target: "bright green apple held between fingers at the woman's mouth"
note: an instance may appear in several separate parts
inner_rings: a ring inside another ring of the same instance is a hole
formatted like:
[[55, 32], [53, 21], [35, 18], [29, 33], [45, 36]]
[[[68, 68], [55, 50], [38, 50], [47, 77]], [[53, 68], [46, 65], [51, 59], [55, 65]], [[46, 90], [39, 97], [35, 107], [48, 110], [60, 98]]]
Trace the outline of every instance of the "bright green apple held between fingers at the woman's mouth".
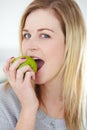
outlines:
[[[29, 56], [20, 56], [20, 57], [17, 57], [17, 58], [15, 58], [15, 59], [13, 60], [13, 62], [15, 62], [16, 60], [21, 59], [21, 58], [26, 58], [26, 61], [24, 61], [22, 64], [20, 64], [18, 68], [23, 67], [23, 66], [25, 66], [25, 65], [29, 65], [29, 66], [33, 69], [33, 71], [34, 71], [35, 73], [37, 72], [37, 64], [36, 64], [36, 62], [35, 62], [34, 59], [32, 59], [32, 58], [29, 57]], [[12, 63], [13, 63], [13, 62], [12, 62]]]

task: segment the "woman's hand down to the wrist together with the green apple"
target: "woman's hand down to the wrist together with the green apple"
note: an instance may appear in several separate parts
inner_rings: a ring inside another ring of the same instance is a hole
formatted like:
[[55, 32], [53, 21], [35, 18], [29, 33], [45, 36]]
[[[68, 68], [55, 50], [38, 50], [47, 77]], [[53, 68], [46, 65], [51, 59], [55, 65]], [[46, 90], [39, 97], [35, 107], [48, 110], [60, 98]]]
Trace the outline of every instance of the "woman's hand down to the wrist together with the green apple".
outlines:
[[36, 111], [39, 102], [33, 86], [37, 72], [37, 63], [34, 59], [29, 56], [10, 58], [4, 66], [4, 72], [21, 103], [22, 109]]

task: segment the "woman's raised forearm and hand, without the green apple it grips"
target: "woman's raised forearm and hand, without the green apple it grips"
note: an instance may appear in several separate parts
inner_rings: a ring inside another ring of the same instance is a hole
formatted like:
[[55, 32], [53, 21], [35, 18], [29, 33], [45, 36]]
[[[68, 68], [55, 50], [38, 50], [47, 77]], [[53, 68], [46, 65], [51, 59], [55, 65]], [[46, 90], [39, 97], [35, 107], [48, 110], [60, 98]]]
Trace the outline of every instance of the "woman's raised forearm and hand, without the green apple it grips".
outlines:
[[12, 59], [7, 61], [4, 72], [21, 103], [21, 112], [15, 130], [34, 130], [39, 107], [39, 101], [32, 85], [35, 73], [29, 66], [17, 69], [23, 62], [22, 59], [15, 61], [10, 66], [11, 61]]

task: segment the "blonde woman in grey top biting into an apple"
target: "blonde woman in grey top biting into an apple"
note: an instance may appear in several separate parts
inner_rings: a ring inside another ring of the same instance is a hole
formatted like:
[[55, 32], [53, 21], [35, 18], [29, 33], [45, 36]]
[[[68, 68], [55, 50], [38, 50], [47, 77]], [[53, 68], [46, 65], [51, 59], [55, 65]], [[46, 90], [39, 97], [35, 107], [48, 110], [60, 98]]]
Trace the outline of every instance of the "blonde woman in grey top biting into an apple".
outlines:
[[85, 28], [73, 0], [34, 0], [27, 7], [20, 49], [36, 60], [38, 71], [17, 69], [26, 58], [6, 62], [10, 87], [0, 97], [1, 130], [86, 129]]

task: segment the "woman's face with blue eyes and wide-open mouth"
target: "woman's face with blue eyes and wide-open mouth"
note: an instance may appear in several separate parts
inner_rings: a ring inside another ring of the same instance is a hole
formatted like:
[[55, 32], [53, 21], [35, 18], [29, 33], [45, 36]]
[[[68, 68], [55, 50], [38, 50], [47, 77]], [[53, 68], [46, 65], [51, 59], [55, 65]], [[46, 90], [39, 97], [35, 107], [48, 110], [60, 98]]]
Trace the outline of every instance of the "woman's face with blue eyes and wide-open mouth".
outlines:
[[28, 15], [23, 28], [22, 51], [37, 62], [35, 83], [45, 84], [58, 77], [64, 61], [65, 37], [52, 10], [38, 9]]

